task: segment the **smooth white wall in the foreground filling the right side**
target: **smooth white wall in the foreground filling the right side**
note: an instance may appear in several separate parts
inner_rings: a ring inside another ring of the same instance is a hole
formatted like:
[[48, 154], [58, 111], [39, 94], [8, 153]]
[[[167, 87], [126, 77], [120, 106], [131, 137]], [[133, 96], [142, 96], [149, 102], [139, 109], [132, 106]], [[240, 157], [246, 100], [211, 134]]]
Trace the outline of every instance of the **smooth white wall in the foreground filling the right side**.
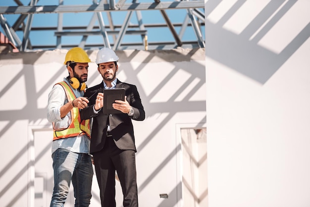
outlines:
[[310, 206], [309, 8], [206, 0], [209, 207]]

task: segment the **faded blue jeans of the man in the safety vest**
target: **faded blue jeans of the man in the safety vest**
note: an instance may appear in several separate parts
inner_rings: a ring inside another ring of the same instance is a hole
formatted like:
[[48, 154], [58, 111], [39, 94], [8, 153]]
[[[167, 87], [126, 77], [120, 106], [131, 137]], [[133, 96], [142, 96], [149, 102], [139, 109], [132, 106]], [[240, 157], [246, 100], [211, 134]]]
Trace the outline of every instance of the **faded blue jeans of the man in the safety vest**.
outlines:
[[92, 198], [93, 166], [91, 156], [57, 149], [52, 154], [54, 189], [51, 207], [63, 207], [70, 183], [74, 189], [74, 207], [88, 207]]

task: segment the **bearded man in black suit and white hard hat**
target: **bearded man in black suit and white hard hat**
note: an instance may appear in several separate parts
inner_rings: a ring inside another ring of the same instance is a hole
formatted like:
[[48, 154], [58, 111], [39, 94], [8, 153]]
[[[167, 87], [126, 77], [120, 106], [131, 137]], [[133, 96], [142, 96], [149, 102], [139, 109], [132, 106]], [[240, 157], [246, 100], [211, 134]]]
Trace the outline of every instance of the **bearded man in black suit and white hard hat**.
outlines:
[[[81, 110], [81, 118], [93, 117], [91, 154], [94, 156], [96, 176], [102, 207], [115, 207], [115, 170], [122, 192], [124, 207], [138, 207], [135, 138], [133, 120], [145, 119], [137, 87], [116, 78], [118, 56], [109, 48], [101, 49], [96, 58], [103, 82], [86, 90], [88, 106]], [[103, 93], [100, 89], [125, 89], [125, 101], [116, 100], [113, 108], [119, 113], [103, 112]], [[97, 96], [96, 96], [97, 94]], [[92, 96], [94, 95], [94, 96]], [[91, 97], [92, 96], [92, 97]]]

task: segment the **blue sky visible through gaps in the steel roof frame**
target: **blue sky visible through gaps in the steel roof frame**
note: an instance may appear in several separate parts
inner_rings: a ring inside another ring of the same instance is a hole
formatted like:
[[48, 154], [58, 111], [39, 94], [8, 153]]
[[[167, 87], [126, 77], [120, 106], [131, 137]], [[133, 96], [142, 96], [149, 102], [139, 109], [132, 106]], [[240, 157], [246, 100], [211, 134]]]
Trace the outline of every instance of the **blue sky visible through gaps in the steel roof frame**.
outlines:
[[[172, 1], [172, 0], [162, 0], [162, 1]], [[28, 5], [30, 0], [21, 0], [24, 5]], [[126, 1], [126, 3], [131, 1]], [[153, 2], [151, 0], [139, 0], [138, 2]], [[93, 0], [64, 0], [64, 5], [76, 5], [76, 4], [92, 4]], [[117, 3], [117, 0], [116, 0]], [[39, 0], [37, 5], [57, 5], [58, 0]], [[1, 0], [0, 6], [16, 6], [16, 3], [13, 0]], [[103, 13], [103, 20], [105, 25], [108, 25], [108, 19], [106, 12]], [[142, 10], [142, 18], [144, 24], [153, 24], [153, 23], [165, 23], [159, 10], [145, 11]], [[172, 23], [183, 23], [186, 15], [185, 9], [167, 9], [166, 13], [170, 18]], [[125, 19], [127, 12], [126, 11], [116, 11], [111, 12], [112, 20], [114, 25], [122, 25]], [[87, 26], [92, 18], [92, 12], [84, 13], [64, 13], [63, 17], [63, 26]], [[7, 19], [8, 23], [12, 26], [16, 19], [19, 17], [19, 14], [6, 14], [4, 17]], [[25, 21], [26, 22], [26, 21]], [[136, 12], [133, 12], [131, 24], [138, 24]], [[95, 25], [98, 25], [96, 22]], [[33, 27], [45, 27], [45, 26], [57, 26], [57, 14], [34, 14]], [[174, 41], [174, 38], [168, 28], [147, 28], [148, 30], [148, 41]], [[175, 27], [177, 33], [179, 33], [180, 28]], [[0, 31], [3, 33], [2, 28]], [[204, 29], [203, 29], [204, 37]], [[23, 33], [17, 32], [17, 35], [22, 40]], [[182, 41], [196, 40], [195, 33], [192, 27], [188, 27], [185, 31], [185, 34], [182, 38]], [[30, 41], [32, 45], [51, 45], [56, 43], [56, 37], [54, 36], [53, 31], [31, 31], [30, 32]], [[67, 36], [62, 37], [62, 43], [64, 44], [78, 44], [81, 41], [81, 36]], [[87, 44], [98, 43], [103, 41], [101, 36], [89, 36], [87, 39]], [[110, 43], [113, 43], [112, 37], [109, 36]], [[141, 36], [139, 35], [124, 35], [122, 43], [128, 42], [142, 42]]]

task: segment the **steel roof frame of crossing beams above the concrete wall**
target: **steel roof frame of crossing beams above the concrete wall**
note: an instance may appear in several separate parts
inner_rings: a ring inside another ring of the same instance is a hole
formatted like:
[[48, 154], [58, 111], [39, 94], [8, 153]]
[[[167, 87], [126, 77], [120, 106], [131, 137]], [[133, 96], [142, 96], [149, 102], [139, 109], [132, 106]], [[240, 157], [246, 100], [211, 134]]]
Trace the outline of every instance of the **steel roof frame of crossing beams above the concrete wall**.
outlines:
[[[113, 50], [169, 50], [177, 47], [182, 48], [205, 48], [205, 41], [202, 29], [205, 25], [204, 0], [176, 0], [125, 3], [125, 0], [93, 0], [92, 4], [83, 5], [64, 5], [64, 0], [59, 0], [58, 5], [39, 5], [39, 0], [30, 0], [29, 5], [23, 5], [20, 0], [13, 0], [16, 6], [0, 6], [0, 24], [7, 38], [20, 50], [51, 50], [81, 47], [87, 49], [97, 49], [103, 46]], [[167, 15], [167, 9], [185, 9], [186, 15], [183, 22], [172, 23]], [[144, 24], [141, 11], [159, 10], [165, 23]], [[112, 12], [127, 11], [127, 15], [122, 25], [114, 25]], [[64, 13], [92, 12], [92, 18], [87, 26], [63, 26]], [[103, 12], [106, 12], [108, 24], [103, 20]], [[138, 24], [130, 24], [133, 12], [136, 13]], [[32, 27], [33, 16], [35, 14], [57, 13], [56, 27]], [[15, 23], [10, 24], [4, 15], [19, 15]], [[26, 20], [26, 22], [24, 22]], [[98, 21], [98, 25], [96, 24]], [[168, 28], [174, 41], [148, 42], [148, 28]], [[179, 27], [179, 33], [175, 27]], [[195, 37], [191, 41], [182, 41], [186, 28], [191, 27]], [[53, 31], [56, 36], [55, 45], [31, 45], [29, 34], [31, 31]], [[23, 32], [22, 40], [16, 34], [17, 31]], [[89, 36], [100, 35], [103, 42], [87, 44]], [[141, 42], [123, 43], [124, 35], [140, 35]], [[81, 36], [78, 44], [63, 44], [64, 36]], [[112, 42], [111, 42], [111, 37]]]

